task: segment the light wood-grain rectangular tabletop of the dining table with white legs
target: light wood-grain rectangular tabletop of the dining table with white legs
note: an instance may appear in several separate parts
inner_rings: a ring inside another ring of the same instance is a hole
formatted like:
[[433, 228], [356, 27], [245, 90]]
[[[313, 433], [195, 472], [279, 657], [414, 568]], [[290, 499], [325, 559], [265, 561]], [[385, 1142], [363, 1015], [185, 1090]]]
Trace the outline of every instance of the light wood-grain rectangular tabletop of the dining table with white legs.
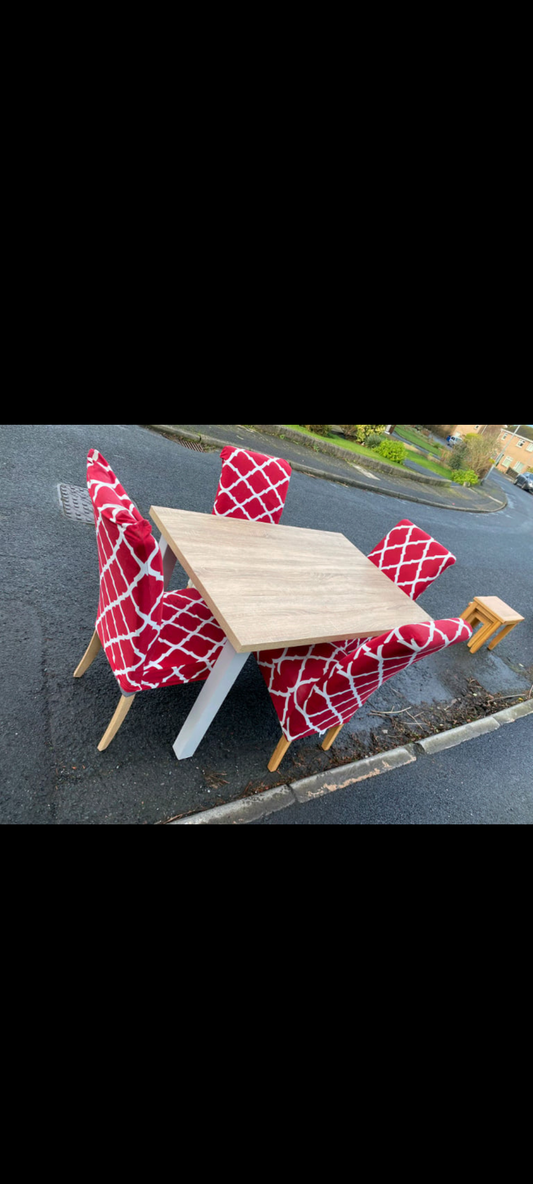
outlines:
[[432, 619], [343, 534], [166, 506], [150, 517], [238, 652]]

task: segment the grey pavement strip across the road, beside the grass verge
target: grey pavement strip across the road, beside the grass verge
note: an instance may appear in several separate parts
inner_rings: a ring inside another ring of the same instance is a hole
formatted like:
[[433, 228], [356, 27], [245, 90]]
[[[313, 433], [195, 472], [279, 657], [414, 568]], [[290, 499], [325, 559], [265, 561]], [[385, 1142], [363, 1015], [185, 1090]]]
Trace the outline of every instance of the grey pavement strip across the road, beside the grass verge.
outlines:
[[[346, 459], [346, 449], [314, 440], [282, 424], [147, 424], [158, 431], [199, 443], [206, 448], [224, 448], [239, 444], [256, 452], [266, 452], [289, 461], [300, 472], [312, 477], [335, 481], [343, 485], [368, 489], [387, 497], [435, 506], [442, 509], [462, 510], [470, 514], [494, 514], [505, 509], [507, 497], [494, 481], [486, 478], [474, 488], [457, 485], [443, 477], [417, 471], [416, 462], [409, 459], [405, 474], [386, 462], [358, 458]], [[394, 433], [397, 435], [397, 433]], [[400, 437], [398, 437], [400, 438]], [[349, 453], [348, 453], [349, 455]]]

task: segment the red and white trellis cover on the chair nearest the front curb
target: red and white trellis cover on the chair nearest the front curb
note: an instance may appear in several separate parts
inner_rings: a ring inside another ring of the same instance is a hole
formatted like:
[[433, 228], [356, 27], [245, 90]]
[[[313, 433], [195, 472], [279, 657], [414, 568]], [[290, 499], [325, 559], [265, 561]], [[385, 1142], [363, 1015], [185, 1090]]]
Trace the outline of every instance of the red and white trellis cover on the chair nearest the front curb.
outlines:
[[[353, 642], [263, 650], [257, 654], [264, 681], [288, 740], [346, 723], [387, 678], [420, 658], [471, 637], [461, 617], [402, 625], [379, 637]], [[347, 644], [347, 643], [342, 643]]]

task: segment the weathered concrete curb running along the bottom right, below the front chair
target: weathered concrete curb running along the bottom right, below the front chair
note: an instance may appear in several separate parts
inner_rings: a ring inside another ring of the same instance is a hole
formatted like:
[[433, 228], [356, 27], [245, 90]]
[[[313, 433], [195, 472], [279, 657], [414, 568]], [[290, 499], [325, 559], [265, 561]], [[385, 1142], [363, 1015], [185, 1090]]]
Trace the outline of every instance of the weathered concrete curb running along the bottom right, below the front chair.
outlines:
[[439, 732], [426, 740], [415, 740], [413, 744], [391, 748], [375, 757], [366, 757], [364, 760], [351, 761], [348, 765], [338, 765], [336, 768], [316, 773], [314, 777], [304, 777], [300, 781], [289, 781], [274, 790], [265, 790], [264, 793], [258, 793], [253, 798], [238, 798], [224, 806], [203, 810], [188, 818], [178, 818], [167, 825], [190, 826], [204, 823], [224, 825], [253, 822], [257, 818], [266, 817], [275, 810], [283, 810], [296, 803], [303, 804], [313, 798], [322, 797], [325, 793], [333, 793], [348, 785], [357, 785], [358, 781], [364, 781], [368, 777], [379, 777], [380, 773], [387, 773], [392, 768], [410, 765], [418, 757], [430, 757], [444, 748], [452, 748], [467, 740], [475, 740], [487, 732], [496, 732], [500, 725], [513, 723], [514, 720], [531, 714], [533, 714], [533, 699], [515, 703], [514, 707], [506, 707], [502, 712], [495, 712], [494, 715], [487, 715], [482, 720], [473, 720], [471, 723], [463, 723], [458, 728]]

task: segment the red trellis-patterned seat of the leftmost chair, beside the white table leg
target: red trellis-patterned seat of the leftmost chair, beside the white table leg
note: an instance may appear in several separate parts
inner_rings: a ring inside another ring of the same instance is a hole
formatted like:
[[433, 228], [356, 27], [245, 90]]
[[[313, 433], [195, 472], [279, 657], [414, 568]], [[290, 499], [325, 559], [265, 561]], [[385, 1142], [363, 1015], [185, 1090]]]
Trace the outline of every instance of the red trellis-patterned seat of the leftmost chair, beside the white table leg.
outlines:
[[225, 642], [224, 630], [197, 588], [166, 592], [162, 623], [142, 670], [142, 689], [207, 678]]

